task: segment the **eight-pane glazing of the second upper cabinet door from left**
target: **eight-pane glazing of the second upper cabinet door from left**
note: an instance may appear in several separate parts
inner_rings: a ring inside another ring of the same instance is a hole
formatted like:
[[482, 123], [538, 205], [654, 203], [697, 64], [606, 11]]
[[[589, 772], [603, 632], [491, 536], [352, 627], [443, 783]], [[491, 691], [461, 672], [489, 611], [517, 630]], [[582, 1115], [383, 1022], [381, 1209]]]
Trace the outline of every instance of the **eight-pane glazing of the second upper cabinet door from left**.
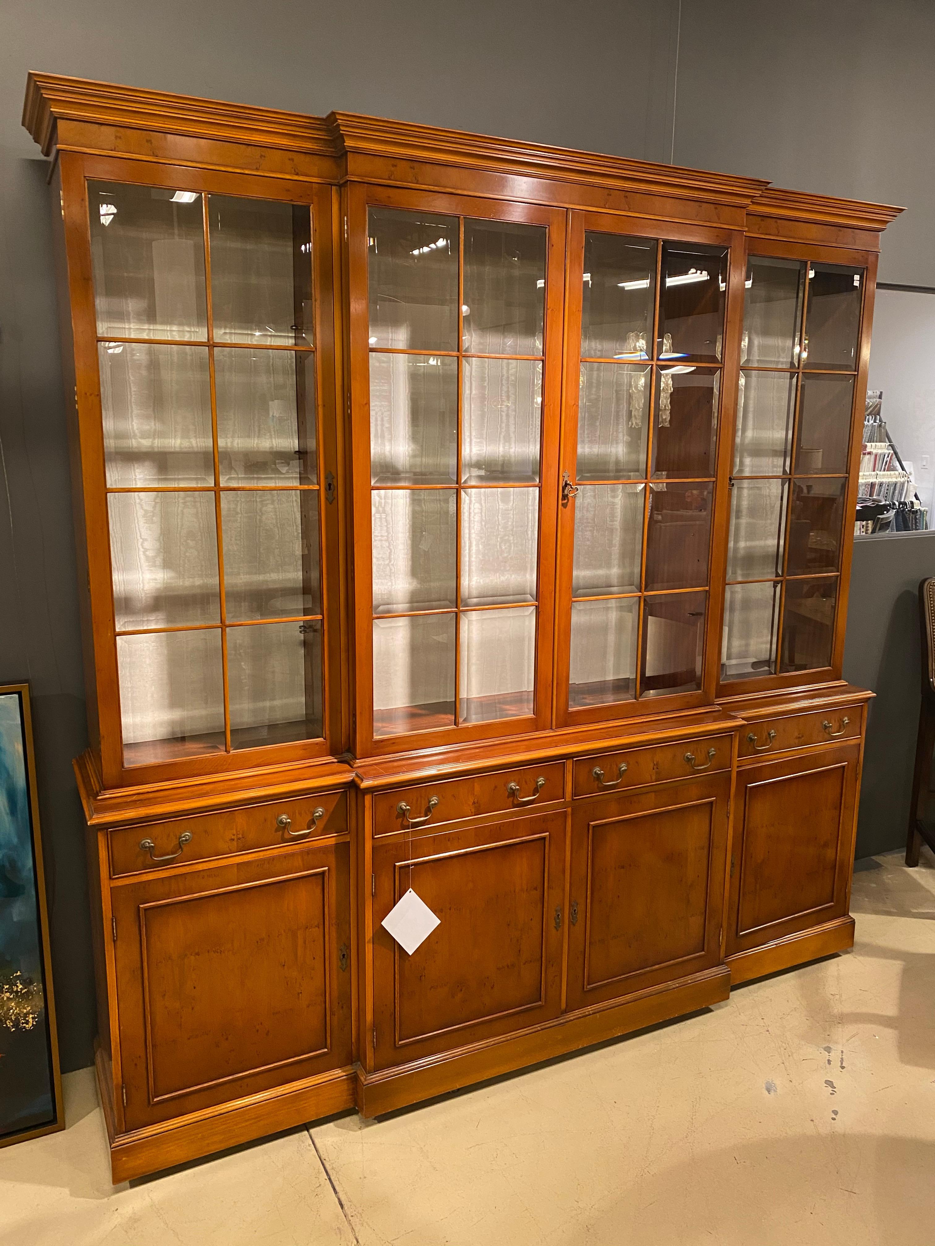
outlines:
[[547, 227], [368, 211], [374, 736], [525, 718]]

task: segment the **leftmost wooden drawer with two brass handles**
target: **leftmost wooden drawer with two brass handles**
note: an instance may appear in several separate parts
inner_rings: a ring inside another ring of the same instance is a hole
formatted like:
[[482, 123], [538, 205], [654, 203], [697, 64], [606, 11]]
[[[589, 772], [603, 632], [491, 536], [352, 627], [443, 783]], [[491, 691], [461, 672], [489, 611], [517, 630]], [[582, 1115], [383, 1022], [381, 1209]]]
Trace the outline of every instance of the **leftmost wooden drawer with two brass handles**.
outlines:
[[[288, 819], [288, 825], [280, 819]], [[347, 829], [348, 795], [344, 791], [126, 826], [107, 834], [111, 877], [282, 844], [302, 844], [323, 835], [343, 835]]]

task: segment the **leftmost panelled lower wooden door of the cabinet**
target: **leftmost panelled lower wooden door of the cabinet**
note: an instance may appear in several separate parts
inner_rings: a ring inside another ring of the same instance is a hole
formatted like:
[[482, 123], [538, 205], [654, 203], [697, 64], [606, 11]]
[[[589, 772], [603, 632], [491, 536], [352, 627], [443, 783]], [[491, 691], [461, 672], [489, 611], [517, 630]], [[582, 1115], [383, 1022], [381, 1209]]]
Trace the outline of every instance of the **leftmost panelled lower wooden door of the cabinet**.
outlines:
[[127, 1129], [350, 1064], [348, 855], [113, 888]]

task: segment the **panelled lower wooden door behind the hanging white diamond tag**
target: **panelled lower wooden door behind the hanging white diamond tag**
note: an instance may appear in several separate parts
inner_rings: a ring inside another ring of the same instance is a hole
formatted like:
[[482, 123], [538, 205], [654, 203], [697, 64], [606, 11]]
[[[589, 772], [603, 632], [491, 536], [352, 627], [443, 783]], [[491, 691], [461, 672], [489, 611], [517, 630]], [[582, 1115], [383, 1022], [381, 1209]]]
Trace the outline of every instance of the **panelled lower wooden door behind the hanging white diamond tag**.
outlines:
[[[557, 812], [374, 849], [378, 1069], [559, 1015], [566, 827]], [[440, 920], [411, 956], [380, 925], [410, 886]]]

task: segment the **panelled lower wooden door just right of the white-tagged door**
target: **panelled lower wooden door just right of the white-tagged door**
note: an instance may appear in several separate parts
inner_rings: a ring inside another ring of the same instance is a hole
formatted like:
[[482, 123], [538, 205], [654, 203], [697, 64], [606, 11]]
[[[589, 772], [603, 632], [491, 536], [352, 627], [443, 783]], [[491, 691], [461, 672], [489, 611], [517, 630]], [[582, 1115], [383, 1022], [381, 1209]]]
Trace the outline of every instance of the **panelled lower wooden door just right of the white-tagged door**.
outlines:
[[576, 806], [568, 1009], [719, 962], [729, 792], [722, 774]]

